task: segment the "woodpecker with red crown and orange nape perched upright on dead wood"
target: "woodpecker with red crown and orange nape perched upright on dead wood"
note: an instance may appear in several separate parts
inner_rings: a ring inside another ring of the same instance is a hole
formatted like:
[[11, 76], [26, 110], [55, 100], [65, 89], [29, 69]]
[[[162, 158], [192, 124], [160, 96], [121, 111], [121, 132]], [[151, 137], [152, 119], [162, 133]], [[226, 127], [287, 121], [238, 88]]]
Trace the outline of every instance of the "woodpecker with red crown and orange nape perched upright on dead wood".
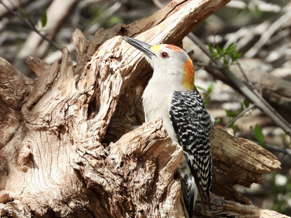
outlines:
[[154, 69], [142, 95], [145, 122], [163, 118], [168, 135], [183, 148], [178, 166], [181, 190], [189, 217], [199, 191], [204, 211], [211, 211], [209, 189], [212, 178], [210, 137], [214, 117], [205, 109], [194, 85], [194, 66], [188, 54], [175, 45], [145, 42], [124, 36], [123, 39], [145, 54]]

